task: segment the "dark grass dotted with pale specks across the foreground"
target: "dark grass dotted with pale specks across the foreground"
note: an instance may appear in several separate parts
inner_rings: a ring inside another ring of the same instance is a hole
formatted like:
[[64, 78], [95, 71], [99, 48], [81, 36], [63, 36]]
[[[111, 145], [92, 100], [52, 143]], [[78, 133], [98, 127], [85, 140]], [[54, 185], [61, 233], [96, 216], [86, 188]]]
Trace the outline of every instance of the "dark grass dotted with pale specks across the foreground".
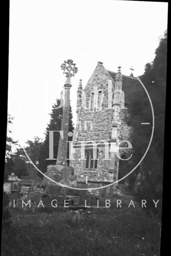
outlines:
[[2, 230], [2, 256], [159, 256], [158, 217], [140, 207], [91, 209], [85, 222], [70, 221], [70, 210], [51, 214], [12, 210]]

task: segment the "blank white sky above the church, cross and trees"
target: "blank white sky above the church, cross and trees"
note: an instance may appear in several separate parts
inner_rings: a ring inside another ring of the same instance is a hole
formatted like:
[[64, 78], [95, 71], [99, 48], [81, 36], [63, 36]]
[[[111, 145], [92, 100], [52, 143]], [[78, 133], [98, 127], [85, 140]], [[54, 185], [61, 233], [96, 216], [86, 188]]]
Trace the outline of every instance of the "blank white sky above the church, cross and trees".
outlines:
[[48, 113], [66, 80], [61, 64], [72, 58], [71, 106], [76, 124], [76, 91], [100, 60], [108, 70], [144, 72], [167, 28], [167, 3], [138, 1], [11, 0], [8, 113], [13, 138], [23, 145], [44, 138]]

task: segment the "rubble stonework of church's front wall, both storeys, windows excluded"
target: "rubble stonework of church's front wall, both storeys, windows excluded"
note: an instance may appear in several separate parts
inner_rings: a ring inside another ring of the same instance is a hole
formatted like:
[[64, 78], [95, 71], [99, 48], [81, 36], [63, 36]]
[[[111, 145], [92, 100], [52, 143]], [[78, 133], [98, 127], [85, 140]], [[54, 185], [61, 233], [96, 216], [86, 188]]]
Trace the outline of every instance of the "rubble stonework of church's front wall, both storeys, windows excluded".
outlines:
[[[78, 129], [77, 142], [79, 141], [98, 141], [98, 140], [110, 140], [111, 139], [111, 124], [113, 118], [113, 110], [108, 109], [108, 78], [105, 74], [105, 70], [101, 65], [97, 65], [93, 75], [89, 82], [85, 86], [86, 94], [86, 106], [89, 106], [91, 92], [94, 92], [94, 86], [97, 86], [97, 90], [102, 90], [102, 109], [90, 112], [89, 108], [80, 109], [79, 120], [81, 126]], [[90, 122], [92, 122], [92, 127]], [[85, 122], [87, 122], [87, 130], [85, 130]], [[78, 128], [78, 127], [77, 127]], [[92, 128], [92, 130], [91, 130]], [[84, 160], [81, 158], [81, 148], [78, 146], [74, 148], [73, 166], [74, 171], [77, 174], [78, 180], [85, 180], [85, 176], [88, 176], [88, 180], [95, 181], [107, 181], [108, 180], [108, 166], [109, 160], [103, 160], [105, 158], [104, 146], [97, 146], [101, 151], [98, 154], [97, 170], [85, 170]]]

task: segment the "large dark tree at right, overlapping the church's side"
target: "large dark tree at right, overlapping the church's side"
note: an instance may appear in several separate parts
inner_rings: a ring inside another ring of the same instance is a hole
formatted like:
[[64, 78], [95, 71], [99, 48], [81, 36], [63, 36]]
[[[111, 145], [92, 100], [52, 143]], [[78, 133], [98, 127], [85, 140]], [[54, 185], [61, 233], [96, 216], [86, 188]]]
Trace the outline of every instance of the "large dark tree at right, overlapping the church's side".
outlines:
[[[155, 130], [151, 146], [143, 163], [141, 170], [143, 179], [141, 180], [140, 196], [161, 198], [163, 179], [163, 150], [164, 150], [164, 122], [165, 122], [165, 94], [166, 94], [166, 70], [167, 70], [167, 31], [159, 41], [159, 46], [155, 50], [153, 62], [145, 65], [145, 72], [140, 77], [147, 88], [151, 98], [155, 113]], [[133, 127], [134, 154], [137, 159], [144, 154], [144, 148], [149, 143], [151, 136], [151, 126], [144, 131], [141, 126], [143, 113], [145, 120], [152, 122], [151, 112], [146, 107], [149, 104], [147, 97], [141, 93], [134, 95], [134, 102], [130, 111], [130, 124]], [[136, 142], [136, 143], [135, 143]], [[135, 175], [135, 174], [134, 174]], [[130, 176], [131, 178], [131, 176]]]

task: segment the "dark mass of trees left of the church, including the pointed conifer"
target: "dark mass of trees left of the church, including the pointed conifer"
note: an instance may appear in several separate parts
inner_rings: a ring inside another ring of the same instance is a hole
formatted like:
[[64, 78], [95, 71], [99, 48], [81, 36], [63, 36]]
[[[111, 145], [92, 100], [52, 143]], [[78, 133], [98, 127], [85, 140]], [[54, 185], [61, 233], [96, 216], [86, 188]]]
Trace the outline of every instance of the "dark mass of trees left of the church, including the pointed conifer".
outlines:
[[[46, 160], [49, 158], [49, 130], [60, 130], [61, 120], [62, 120], [62, 108], [56, 108], [60, 105], [60, 100], [57, 99], [56, 103], [52, 106], [52, 112], [50, 114], [50, 122], [46, 128], [46, 137], [45, 140], [38, 138], [38, 136], [34, 137], [33, 140], [28, 140], [26, 142], [25, 150], [32, 160], [32, 162], [42, 170], [42, 172], [46, 172], [47, 166], [49, 164], [55, 164], [55, 160]], [[8, 118], [8, 126], [12, 124], [13, 118], [9, 115]], [[73, 123], [72, 123], [72, 111], [70, 107], [70, 121], [69, 121], [69, 131], [73, 131]], [[18, 178], [23, 175], [35, 174], [37, 176], [39, 173], [34, 168], [32, 163], [27, 158], [23, 148], [20, 147], [18, 142], [14, 142], [10, 137], [11, 130], [8, 131], [7, 134], [7, 145], [6, 145], [6, 162], [5, 162], [5, 172], [4, 172], [4, 180], [7, 180], [8, 175], [11, 172], [14, 172]], [[57, 157], [58, 154], [58, 140], [59, 133], [54, 132], [54, 158]], [[72, 137], [69, 137], [68, 140], [72, 140]], [[15, 149], [12, 150], [12, 146], [15, 146]]]

